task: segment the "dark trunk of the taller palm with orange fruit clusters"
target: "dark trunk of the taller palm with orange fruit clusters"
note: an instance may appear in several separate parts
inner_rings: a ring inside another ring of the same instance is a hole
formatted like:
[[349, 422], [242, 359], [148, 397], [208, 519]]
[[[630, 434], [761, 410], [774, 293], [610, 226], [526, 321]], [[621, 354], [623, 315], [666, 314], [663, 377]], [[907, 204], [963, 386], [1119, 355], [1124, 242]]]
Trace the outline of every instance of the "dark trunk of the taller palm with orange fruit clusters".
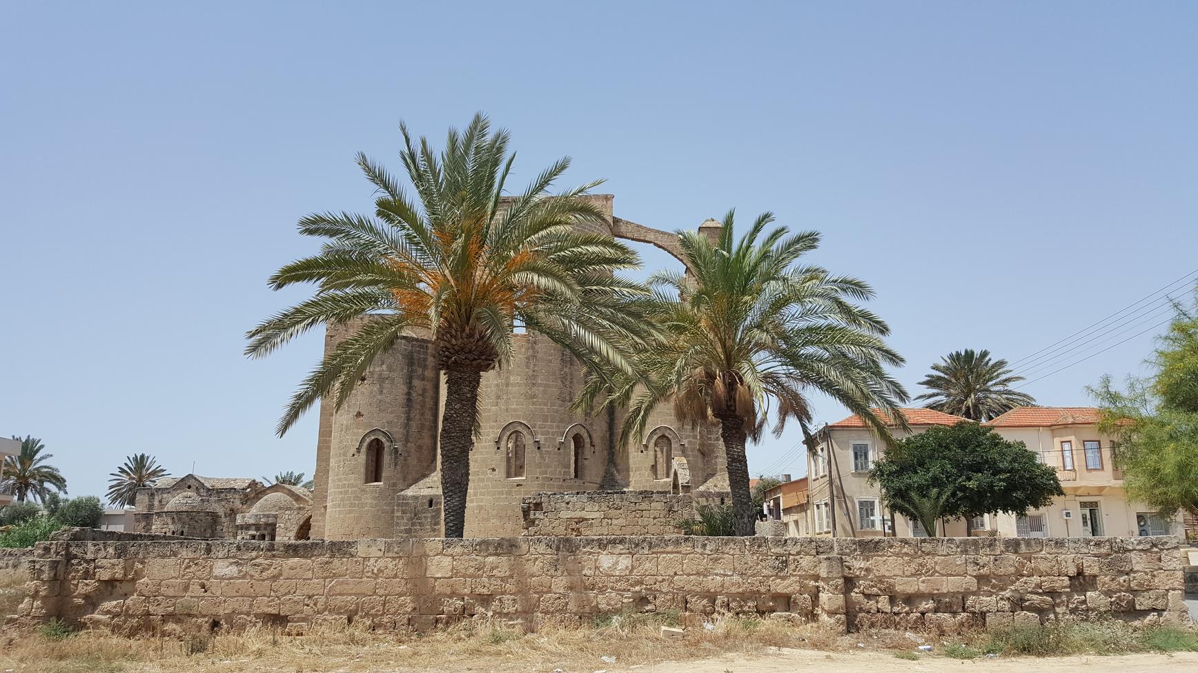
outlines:
[[441, 499], [446, 538], [466, 532], [466, 493], [470, 491], [470, 448], [478, 416], [478, 370], [446, 372], [446, 410], [441, 414]]

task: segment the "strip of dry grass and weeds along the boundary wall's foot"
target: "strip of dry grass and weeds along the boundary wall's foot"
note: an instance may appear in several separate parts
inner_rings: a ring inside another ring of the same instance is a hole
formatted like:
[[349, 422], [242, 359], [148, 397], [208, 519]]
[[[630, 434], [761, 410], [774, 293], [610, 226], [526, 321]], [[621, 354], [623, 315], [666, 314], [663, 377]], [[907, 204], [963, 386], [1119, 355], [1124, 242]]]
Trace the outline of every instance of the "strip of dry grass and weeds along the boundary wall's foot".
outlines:
[[[479, 671], [628, 671], [661, 661], [689, 662], [727, 654], [776, 655], [792, 649], [882, 651], [901, 659], [972, 659], [1012, 655], [1117, 654], [1191, 649], [1198, 635], [1178, 629], [1137, 629], [1121, 623], [1077, 623], [1023, 631], [970, 633], [954, 639], [896, 631], [849, 636], [782, 620], [725, 616], [709, 627], [662, 636], [671, 614], [628, 613], [585, 629], [543, 626], [526, 633], [516, 624], [479, 622], [429, 635], [387, 635], [358, 627], [317, 627], [303, 636], [277, 630], [168, 638], [122, 638], [80, 632], [65, 638], [37, 633], [0, 641], [0, 671], [40, 673], [364, 673]], [[916, 653], [926, 642], [934, 654]], [[1162, 644], [1163, 643], [1163, 644]], [[615, 656], [617, 663], [604, 661]], [[891, 659], [891, 661], [894, 661]], [[897, 662], [895, 662], [897, 663]]]

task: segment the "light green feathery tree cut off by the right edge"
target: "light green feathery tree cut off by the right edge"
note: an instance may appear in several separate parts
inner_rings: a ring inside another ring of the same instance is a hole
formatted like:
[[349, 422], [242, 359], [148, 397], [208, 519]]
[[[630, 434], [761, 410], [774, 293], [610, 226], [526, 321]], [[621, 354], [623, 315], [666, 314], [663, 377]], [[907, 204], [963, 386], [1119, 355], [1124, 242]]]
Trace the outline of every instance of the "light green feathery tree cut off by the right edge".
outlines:
[[1160, 336], [1152, 372], [1131, 377], [1125, 390], [1103, 376], [1090, 394], [1102, 410], [1099, 430], [1113, 436], [1113, 457], [1131, 498], [1164, 516], [1198, 516], [1198, 296], [1176, 307]]

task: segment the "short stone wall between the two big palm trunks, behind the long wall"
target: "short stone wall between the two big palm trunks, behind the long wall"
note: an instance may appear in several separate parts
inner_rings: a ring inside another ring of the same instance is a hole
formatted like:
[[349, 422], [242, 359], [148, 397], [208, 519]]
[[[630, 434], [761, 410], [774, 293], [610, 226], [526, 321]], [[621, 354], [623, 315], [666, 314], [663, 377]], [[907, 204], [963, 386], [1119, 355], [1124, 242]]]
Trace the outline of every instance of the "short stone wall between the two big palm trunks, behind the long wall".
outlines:
[[695, 516], [691, 496], [661, 491], [537, 493], [520, 504], [524, 535], [678, 535]]

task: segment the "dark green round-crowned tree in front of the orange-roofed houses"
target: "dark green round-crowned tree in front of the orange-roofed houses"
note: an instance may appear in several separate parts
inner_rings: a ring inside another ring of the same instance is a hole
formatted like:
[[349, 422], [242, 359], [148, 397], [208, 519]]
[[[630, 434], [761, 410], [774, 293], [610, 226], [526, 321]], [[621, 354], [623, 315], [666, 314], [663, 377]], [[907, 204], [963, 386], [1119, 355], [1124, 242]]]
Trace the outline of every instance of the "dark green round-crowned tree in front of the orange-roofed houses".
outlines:
[[1027, 444], [967, 420], [900, 441], [873, 463], [870, 483], [882, 486], [888, 509], [918, 519], [928, 534], [940, 517], [1023, 515], [1065, 495], [1055, 471]]

